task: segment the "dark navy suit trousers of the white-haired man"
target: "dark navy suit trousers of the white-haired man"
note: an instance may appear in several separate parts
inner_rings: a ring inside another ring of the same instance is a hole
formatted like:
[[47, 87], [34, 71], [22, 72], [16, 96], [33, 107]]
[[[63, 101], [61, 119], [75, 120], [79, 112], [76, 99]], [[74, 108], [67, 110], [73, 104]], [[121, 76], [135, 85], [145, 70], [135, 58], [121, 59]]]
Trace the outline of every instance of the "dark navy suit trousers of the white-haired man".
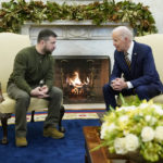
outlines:
[[110, 110], [110, 105], [112, 108], [116, 106], [115, 96], [122, 93], [123, 96], [138, 95], [140, 100], [149, 100], [161, 93], [158, 86], [155, 85], [146, 85], [139, 86], [135, 89], [123, 89], [122, 91], [115, 91], [109, 84], [103, 86], [103, 96], [106, 110]]

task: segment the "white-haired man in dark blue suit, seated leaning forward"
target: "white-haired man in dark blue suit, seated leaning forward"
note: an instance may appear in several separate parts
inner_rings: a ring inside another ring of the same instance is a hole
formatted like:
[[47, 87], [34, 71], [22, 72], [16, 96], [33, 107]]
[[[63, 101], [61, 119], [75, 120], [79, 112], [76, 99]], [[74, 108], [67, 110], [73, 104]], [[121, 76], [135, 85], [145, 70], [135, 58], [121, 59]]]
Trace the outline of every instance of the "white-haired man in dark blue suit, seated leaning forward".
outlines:
[[110, 82], [103, 87], [106, 110], [116, 106], [115, 96], [120, 92], [138, 95], [140, 100], [163, 92], [151, 48], [133, 41], [133, 33], [125, 26], [114, 28], [112, 38], [116, 50]]

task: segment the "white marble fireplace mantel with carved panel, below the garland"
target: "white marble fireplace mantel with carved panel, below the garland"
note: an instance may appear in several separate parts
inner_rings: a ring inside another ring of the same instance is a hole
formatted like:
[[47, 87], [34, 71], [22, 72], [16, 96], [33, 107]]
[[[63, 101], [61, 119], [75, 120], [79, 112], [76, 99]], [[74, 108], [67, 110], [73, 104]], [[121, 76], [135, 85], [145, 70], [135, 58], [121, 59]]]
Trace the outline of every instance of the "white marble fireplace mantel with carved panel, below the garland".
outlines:
[[112, 60], [114, 47], [111, 32], [114, 27], [126, 23], [103, 23], [100, 26], [91, 21], [54, 21], [36, 24], [26, 22], [21, 34], [29, 35], [32, 43], [36, 43], [39, 30], [52, 29], [58, 35], [57, 49], [53, 55], [109, 55]]

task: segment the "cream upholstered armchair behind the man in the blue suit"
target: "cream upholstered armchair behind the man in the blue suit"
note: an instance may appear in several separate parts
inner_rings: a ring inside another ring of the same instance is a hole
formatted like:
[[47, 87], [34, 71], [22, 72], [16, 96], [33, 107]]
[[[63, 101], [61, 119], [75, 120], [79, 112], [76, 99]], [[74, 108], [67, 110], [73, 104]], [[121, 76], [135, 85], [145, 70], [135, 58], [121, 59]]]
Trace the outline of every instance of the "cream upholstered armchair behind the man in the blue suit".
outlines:
[[[149, 45], [152, 48], [153, 57], [155, 61], [155, 66], [160, 75], [161, 82], [163, 83], [163, 34], [153, 34], [141, 37], [136, 37], [136, 41]], [[134, 99], [134, 96], [125, 97], [125, 100], [128, 101]], [[154, 97], [153, 102], [163, 104], [163, 93]], [[121, 105], [122, 101], [118, 98], [117, 104]]]

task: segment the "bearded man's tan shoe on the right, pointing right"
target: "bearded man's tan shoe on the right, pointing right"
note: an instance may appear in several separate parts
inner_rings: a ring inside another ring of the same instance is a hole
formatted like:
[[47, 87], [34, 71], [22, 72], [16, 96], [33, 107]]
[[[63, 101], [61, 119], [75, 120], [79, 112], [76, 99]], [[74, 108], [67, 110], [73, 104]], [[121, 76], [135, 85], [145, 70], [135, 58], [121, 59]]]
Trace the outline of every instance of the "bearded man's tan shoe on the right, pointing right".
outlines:
[[43, 137], [51, 137], [54, 139], [61, 139], [64, 137], [64, 134], [59, 131], [57, 128], [48, 127], [48, 128], [43, 128]]

